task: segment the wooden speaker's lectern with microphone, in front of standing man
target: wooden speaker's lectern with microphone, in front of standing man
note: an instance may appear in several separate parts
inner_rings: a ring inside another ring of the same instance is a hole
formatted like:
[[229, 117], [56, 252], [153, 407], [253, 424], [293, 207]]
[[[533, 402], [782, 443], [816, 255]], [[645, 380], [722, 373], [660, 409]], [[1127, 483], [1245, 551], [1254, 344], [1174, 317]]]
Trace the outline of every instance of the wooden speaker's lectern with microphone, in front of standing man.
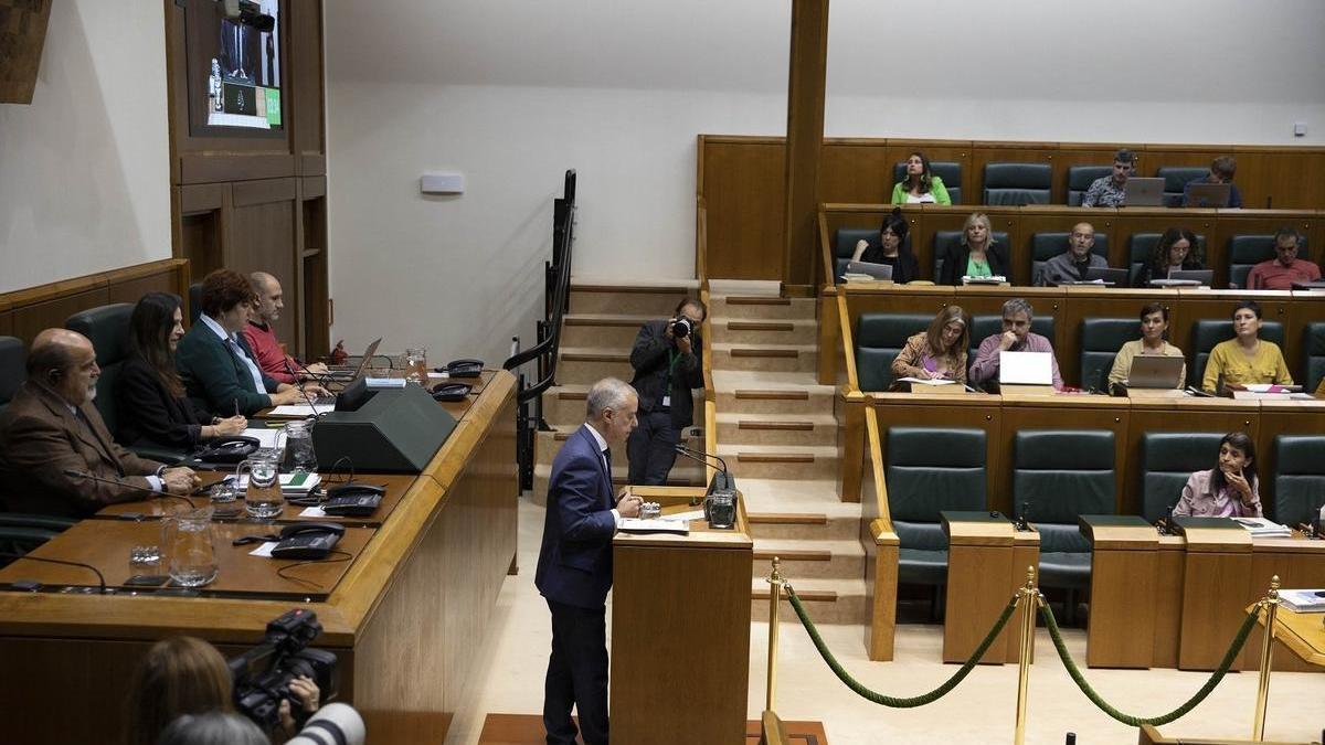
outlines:
[[[632, 487], [664, 516], [698, 510], [702, 487]], [[745, 500], [731, 530], [612, 540], [612, 738], [631, 745], [745, 742], [750, 570]]]

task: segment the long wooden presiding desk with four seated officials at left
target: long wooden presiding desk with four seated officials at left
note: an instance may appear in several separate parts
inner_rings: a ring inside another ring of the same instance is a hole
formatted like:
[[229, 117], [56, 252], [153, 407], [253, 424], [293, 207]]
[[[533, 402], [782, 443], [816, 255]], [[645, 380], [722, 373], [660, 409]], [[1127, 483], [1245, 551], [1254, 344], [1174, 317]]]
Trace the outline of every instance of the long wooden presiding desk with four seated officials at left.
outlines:
[[[482, 394], [470, 400], [423, 472], [408, 477], [408, 484], [395, 484], [403, 490], [382, 526], [347, 529], [341, 545], [354, 549], [354, 561], [286, 573], [323, 581], [329, 585], [325, 599], [297, 603], [284, 594], [246, 591], [245, 597], [178, 598], [0, 587], [5, 669], [0, 701], [7, 712], [29, 715], [9, 717], [5, 742], [113, 738], [125, 722], [125, 683], [154, 642], [188, 634], [216, 644], [227, 658], [236, 656], [261, 643], [266, 623], [294, 606], [318, 614], [323, 631], [311, 646], [335, 652], [338, 700], [363, 715], [371, 742], [444, 741], [466, 683], [484, 664], [481, 642], [515, 555], [515, 378], [492, 374]], [[256, 526], [215, 526], [249, 529]], [[152, 522], [90, 520], [40, 551], [94, 550], [81, 545], [85, 532], [126, 532], [121, 540], [156, 542], [135, 533], [155, 530]], [[252, 557], [227, 554], [228, 541], [216, 544], [223, 567], [215, 587], [242, 581], [227, 562]], [[127, 549], [113, 549], [106, 561], [118, 562], [117, 571], [127, 574]], [[264, 561], [272, 569], [278, 563]], [[33, 563], [16, 562], [4, 577], [32, 577]], [[77, 571], [58, 570], [65, 569]], [[749, 571], [747, 563], [747, 581]], [[87, 582], [64, 574], [56, 579]], [[285, 587], [277, 589], [284, 593]], [[743, 707], [743, 695], [741, 700]]]

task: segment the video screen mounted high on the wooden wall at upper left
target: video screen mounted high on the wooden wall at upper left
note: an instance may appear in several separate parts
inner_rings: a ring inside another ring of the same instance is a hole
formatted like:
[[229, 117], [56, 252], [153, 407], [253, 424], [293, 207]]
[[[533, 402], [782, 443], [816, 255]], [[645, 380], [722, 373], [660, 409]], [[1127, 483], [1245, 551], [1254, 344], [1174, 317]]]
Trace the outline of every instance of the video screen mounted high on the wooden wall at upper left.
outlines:
[[240, 0], [238, 11], [221, 19], [207, 76], [207, 123], [280, 129], [280, 0]]

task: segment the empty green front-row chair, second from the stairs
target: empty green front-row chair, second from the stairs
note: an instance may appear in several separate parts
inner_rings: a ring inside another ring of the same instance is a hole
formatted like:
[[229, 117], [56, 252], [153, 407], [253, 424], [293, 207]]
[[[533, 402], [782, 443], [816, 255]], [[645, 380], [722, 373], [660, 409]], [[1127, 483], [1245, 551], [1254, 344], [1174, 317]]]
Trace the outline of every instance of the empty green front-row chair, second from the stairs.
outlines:
[[1012, 440], [1012, 505], [1040, 532], [1041, 587], [1076, 591], [1090, 586], [1090, 544], [1083, 514], [1114, 513], [1114, 449], [1109, 430], [1022, 430]]

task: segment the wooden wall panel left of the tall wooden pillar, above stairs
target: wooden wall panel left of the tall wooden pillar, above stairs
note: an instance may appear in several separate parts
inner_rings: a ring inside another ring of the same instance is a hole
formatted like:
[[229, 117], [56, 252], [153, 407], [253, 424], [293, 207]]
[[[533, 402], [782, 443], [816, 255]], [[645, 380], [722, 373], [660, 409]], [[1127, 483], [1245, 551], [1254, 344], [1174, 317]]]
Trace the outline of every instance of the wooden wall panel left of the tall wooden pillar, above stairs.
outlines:
[[780, 280], [782, 144], [701, 143], [709, 212], [709, 277]]

